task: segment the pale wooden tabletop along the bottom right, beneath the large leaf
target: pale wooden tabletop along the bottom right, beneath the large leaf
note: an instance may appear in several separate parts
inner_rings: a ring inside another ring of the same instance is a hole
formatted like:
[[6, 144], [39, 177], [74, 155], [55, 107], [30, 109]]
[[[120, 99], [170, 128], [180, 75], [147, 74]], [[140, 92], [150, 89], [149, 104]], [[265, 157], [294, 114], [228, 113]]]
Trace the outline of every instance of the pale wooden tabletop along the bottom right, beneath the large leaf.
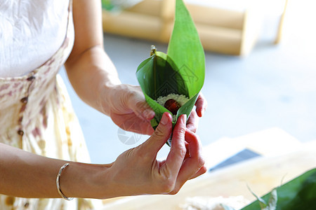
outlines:
[[[256, 137], [256, 135], [252, 134], [252, 137]], [[252, 137], [250, 134], [250, 136], [240, 138], [239, 141], [246, 142]], [[279, 131], [277, 137], [287, 137], [287, 134]], [[103, 209], [180, 209], [180, 204], [184, 204], [187, 197], [195, 196], [229, 197], [243, 195], [247, 200], [255, 200], [247, 185], [256, 195], [261, 196], [279, 186], [282, 181], [285, 183], [316, 167], [316, 141], [296, 144], [296, 139], [291, 139], [290, 136], [285, 140], [289, 141], [292, 146], [296, 145], [296, 149], [289, 149], [282, 155], [270, 153], [269, 156], [218, 169], [198, 179], [188, 181], [177, 195], [117, 198], [107, 200]]]

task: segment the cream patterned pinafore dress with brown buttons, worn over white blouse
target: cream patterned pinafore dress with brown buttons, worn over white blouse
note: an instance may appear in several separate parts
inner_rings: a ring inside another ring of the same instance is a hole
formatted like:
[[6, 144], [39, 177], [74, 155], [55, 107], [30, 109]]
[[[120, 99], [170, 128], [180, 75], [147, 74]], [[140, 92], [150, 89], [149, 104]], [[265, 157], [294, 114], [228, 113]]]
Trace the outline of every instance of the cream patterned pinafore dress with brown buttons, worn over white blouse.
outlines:
[[[34, 4], [41, 3], [41, 1], [54, 0], [28, 0], [29, 3]], [[9, 1], [1, 0], [0, 8], [4, 6], [3, 3], [7, 2]], [[17, 2], [25, 3], [27, 1]], [[49, 158], [90, 162], [84, 136], [72, 109], [66, 87], [57, 74], [70, 55], [74, 43], [72, 1], [67, 3], [65, 10], [67, 11], [65, 33], [60, 44], [56, 41], [58, 46], [55, 47], [55, 52], [51, 55], [49, 52], [41, 57], [37, 61], [37, 66], [32, 67], [33, 69], [29, 68], [32, 65], [27, 65], [25, 69], [19, 70], [18, 75], [13, 73], [13, 76], [0, 77], [0, 142]], [[2, 13], [1, 18], [3, 15]], [[2, 43], [3, 37], [0, 36], [1, 46], [5, 45]], [[0, 53], [0, 60], [3, 62], [2, 50]], [[31, 58], [29, 58], [29, 62], [33, 62]], [[41, 64], [39, 64], [40, 62]], [[13, 66], [9, 69], [10, 71], [0, 71], [10, 74], [15, 70], [12, 68]], [[58, 172], [56, 172], [56, 176], [57, 174]], [[0, 195], [1, 210], [93, 209], [96, 207], [93, 206], [95, 204], [100, 204], [100, 201], [74, 199], [68, 202], [62, 198], [27, 199]]]

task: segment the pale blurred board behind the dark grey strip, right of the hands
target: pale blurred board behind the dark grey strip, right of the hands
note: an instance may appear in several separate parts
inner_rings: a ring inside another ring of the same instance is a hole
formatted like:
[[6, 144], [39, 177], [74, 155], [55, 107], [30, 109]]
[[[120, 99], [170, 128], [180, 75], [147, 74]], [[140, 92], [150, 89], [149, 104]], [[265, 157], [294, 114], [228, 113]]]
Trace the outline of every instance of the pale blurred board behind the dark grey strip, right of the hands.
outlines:
[[241, 137], [223, 137], [204, 146], [203, 152], [206, 167], [211, 168], [245, 148], [263, 156], [277, 156], [296, 151], [299, 147], [301, 141], [278, 127], [271, 127]]

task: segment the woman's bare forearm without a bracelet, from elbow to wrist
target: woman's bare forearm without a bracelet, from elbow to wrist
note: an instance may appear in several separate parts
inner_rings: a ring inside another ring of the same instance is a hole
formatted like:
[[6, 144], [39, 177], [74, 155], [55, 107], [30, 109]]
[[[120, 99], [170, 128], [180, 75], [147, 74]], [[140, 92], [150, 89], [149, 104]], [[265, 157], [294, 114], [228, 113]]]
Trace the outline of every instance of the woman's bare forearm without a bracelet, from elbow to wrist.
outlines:
[[86, 104], [109, 114], [110, 104], [102, 104], [104, 97], [110, 102], [110, 90], [121, 82], [114, 64], [103, 47], [96, 45], [84, 51], [77, 59], [65, 64], [68, 78], [78, 96]]

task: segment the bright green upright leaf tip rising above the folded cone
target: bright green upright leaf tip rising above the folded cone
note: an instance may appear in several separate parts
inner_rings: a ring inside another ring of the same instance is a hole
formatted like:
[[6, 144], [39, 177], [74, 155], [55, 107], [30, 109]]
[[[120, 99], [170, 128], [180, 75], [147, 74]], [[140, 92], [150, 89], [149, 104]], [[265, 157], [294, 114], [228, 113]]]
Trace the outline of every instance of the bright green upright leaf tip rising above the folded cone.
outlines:
[[190, 97], [203, 87], [205, 55], [199, 34], [182, 0], [176, 1], [176, 18], [167, 55], [180, 69], [186, 83], [190, 83]]

